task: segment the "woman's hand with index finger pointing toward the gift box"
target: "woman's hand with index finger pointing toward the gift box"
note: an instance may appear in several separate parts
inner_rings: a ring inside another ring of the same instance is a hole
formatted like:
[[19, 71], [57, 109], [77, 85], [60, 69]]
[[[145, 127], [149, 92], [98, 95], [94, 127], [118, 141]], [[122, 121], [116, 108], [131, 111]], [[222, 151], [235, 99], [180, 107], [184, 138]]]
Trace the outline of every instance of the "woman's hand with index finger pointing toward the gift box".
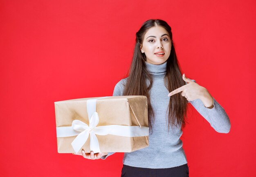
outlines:
[[185, 97], [188, 101], [193, 101], [199, 98], [200, 100], [202, 100], [205, 107], [213, 107], [213, 97], [210, 95], [207, 89], [193, 82], [189, 78], [186, 78], [185, 74], [182, 75], [182, 78], [188, 84], [170, 92], [168, 94], [169, 97], [182, 91], [181, 95]]

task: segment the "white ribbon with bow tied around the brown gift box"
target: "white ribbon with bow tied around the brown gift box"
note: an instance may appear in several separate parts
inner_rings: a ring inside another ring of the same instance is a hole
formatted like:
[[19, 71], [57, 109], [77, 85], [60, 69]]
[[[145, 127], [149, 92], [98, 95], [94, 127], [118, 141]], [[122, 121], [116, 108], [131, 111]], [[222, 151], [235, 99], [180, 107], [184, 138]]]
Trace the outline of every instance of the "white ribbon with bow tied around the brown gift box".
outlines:
[[149, 128], [144, 126], [97, 126], [99, 124], [99, 115], [96, 112], [96, 100], [101, 98], [106, 97], [87, 100], [89, 126], [80, 120], [73, 120], [72, 126], [56, 127], [57, 137], [70, 137], [77, 135], [71, 145], [74, 151], [78, 153], [90, 135], [90, 150], [94, 153], [100, 153], [99, 141], [96, 135], [110, 134], [124, 137], [148, 136]]

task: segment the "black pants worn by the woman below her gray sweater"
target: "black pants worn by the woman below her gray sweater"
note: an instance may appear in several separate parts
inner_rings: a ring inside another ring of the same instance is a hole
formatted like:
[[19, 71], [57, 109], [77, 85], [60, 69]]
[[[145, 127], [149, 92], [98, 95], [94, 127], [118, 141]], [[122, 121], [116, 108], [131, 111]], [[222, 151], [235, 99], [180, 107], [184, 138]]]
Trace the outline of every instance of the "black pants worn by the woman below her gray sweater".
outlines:
[[123, 164], [121, 177], [189, 177], [189, 166], [172, 168], [138, 168]]

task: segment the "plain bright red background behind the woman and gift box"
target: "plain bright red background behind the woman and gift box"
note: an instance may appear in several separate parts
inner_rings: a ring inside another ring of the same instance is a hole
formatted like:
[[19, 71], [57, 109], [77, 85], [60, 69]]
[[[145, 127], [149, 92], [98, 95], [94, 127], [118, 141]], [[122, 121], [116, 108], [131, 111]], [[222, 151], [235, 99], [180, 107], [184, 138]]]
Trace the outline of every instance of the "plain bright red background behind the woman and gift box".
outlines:
[[218, 133], [190, 111], [182, 135], [190, 176], [253, 176], [255, 7], [254, 0], [2, 0], [1, 176], [121, 175], [123, 153], [106, 160], [57, 153], [54, 102], [111, 96], [129, 69], [135, 33], [151, 18], [170, 24], [182, 70], [231, 121], [228, 134]]

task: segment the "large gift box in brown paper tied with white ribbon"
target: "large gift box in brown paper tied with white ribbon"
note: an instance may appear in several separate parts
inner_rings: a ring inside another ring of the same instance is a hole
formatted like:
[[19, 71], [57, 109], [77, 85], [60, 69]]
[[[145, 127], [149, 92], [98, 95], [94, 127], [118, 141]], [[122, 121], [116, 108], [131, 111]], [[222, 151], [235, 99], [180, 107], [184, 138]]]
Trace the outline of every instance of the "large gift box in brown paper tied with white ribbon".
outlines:
[[132, 152], [148, 146], [146, 96], [54, 102], [58, 153]]

